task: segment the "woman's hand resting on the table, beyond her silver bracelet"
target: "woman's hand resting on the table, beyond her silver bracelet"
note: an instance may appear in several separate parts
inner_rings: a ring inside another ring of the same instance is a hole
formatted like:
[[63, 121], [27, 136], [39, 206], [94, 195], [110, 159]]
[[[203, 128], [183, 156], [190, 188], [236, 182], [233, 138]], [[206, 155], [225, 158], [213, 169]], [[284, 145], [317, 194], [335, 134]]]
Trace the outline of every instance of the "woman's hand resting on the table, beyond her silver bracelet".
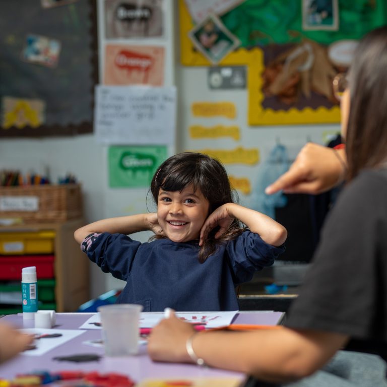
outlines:
[[169, 362], [192, 362], [185, 343], [195, 333], [191, 324], [183, 322], [172, 311], [154, 327], [148, 338], [148, 353], [152, 360]]

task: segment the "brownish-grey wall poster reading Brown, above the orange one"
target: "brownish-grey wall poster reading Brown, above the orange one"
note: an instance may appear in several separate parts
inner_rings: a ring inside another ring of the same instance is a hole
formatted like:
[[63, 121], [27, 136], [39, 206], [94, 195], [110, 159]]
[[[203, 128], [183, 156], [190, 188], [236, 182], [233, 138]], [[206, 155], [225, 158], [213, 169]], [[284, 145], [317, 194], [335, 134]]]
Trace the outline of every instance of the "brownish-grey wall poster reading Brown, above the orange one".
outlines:
[[163, 0], [105, 0], [104, 5], [106, 39], [163, 35]]

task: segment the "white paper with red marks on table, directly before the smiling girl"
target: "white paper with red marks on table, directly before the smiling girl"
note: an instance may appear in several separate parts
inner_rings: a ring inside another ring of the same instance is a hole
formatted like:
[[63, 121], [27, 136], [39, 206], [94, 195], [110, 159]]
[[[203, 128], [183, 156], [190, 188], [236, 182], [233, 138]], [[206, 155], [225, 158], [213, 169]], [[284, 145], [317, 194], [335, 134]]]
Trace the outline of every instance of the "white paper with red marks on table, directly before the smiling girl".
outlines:
[[[200, 324], [206, 328], [227, 327], [238, 310], [227, 312], [177, 312], [176, 316], [192, 324]], [[164, 312], [140, 313], [140, 328], [153, 328], [164, 318]], [[96, 325], [97, 324], [97, 325]], [[99, 313], [93, 314], [79, 329], [101, 329]]]

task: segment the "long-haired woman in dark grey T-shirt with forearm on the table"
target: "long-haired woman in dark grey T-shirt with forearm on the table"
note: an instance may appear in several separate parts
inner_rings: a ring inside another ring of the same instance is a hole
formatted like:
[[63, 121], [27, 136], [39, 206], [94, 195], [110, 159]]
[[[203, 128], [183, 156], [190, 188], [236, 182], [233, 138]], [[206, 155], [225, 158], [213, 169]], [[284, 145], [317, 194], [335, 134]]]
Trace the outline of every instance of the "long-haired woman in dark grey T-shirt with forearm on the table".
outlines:
[[[297, 386], [387, 385], [386, 69], [387, 27], [381, 27], [355, 51], [341, 101], [348, 184], [285, 327], [198, 334], [172, 314], [149, 338], [154, 360], [206, 362], [272, 382], [303, 378], [289, 384]], [[339, 351], [345, 346], [367, 354]]]

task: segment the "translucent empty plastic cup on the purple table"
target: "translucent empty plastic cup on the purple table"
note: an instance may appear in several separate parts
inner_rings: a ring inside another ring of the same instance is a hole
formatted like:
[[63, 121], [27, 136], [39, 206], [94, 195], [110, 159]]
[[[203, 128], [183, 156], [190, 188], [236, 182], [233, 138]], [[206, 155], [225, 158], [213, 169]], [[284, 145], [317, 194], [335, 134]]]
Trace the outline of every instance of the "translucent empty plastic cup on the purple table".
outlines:
[[138, 353], [142, 305], [113, 304], [99, 306], [102, 339], [106, 356], [130, 356]]

